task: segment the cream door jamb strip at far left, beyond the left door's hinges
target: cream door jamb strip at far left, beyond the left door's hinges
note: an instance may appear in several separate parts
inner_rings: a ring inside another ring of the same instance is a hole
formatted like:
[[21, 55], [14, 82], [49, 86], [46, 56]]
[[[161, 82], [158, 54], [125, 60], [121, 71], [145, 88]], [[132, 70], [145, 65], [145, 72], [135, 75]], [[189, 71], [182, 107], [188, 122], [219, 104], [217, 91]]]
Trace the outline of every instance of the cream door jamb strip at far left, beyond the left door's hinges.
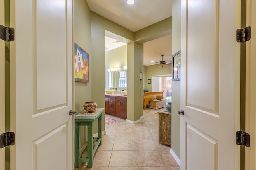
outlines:
[[[0, 0], [0, 25], [4, 25], [4, 0]], [[4, 40], [0, 39], [0, 135], [5, 133]], [[0, 170], [4, 170], [5, 149], [0, 148]]]

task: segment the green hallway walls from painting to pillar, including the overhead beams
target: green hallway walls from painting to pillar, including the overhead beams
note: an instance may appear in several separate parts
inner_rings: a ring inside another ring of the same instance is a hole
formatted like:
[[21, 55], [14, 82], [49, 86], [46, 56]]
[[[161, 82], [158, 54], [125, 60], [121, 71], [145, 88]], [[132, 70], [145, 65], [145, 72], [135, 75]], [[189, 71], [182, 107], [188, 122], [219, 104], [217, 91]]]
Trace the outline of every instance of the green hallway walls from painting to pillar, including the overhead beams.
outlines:
[[[167, 18], [134, 33], [90, 11], [86, 1], [76, 0], [74, 3], [75, 43], [90, 55], [90, 82], [75, 82], [75, 111], [83, 111], [83, 104], [88, 101], [95, 101], [98, 107], [105, 107], [106, 68], [104, 42], [105, 30], [107, 30], [129, 40], [127, 44], [127, 119], [134, 123], [139, 121], [140, 117], [143, 116], [142, 91], [144, 80], [140, 80], [140, 72], [144, 72], [143, 43], [170, 34], [171, 18]], [[102, 119], [105, 119], [105, 113], [102, 115]], [[104, 131], [105, 122], [102, 123], [102, 126]]]

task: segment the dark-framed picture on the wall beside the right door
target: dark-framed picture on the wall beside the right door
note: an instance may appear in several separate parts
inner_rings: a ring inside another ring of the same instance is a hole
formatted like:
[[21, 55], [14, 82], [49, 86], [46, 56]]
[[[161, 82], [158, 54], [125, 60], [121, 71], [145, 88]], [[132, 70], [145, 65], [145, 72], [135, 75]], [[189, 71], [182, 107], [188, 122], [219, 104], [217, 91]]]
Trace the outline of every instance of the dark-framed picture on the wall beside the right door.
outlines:
[[180, 81], [180, 51], [172, 55], [172, 80]]

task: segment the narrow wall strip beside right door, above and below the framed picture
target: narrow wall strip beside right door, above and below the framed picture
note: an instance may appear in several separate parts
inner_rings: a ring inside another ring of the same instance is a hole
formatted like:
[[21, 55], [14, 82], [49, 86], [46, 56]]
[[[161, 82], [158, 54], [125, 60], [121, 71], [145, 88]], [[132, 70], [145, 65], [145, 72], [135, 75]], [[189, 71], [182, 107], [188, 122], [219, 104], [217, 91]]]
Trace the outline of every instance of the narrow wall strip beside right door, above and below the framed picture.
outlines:
[[[172, 55], [180, 50], [180, 0], [172, 0]], [[182, 65], [182, 63], [181, 63]], [[172, 150], [180, 159], [180, 81], [172, 81]]]

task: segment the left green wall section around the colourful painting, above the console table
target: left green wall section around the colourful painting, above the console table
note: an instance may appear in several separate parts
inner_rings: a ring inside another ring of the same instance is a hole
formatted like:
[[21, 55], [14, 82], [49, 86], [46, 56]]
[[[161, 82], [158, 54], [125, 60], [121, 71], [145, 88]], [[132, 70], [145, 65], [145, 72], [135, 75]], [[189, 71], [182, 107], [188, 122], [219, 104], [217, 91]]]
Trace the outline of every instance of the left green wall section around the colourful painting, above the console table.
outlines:
[[[85, 0], [74, 1], [74, 41], [87, 53], [89, 53], [89, 64], [91, 65], [91, 22], [90, 22], [90, 9]], [[74, 88], [74, 103], [75, 111], [79, 113], [84, 110], [84, 103], [92, 100], [92, 68], [89, 66], [89, 82], [75, 82]], [[96, 123], [95, 123], [96, 124]], [[87, 127], [81, 127], [81, 143], [87, 141]], [[102, 128], [105, 131], [105, 126]], [[98, 132], [95, 132], [98, 133]]]

